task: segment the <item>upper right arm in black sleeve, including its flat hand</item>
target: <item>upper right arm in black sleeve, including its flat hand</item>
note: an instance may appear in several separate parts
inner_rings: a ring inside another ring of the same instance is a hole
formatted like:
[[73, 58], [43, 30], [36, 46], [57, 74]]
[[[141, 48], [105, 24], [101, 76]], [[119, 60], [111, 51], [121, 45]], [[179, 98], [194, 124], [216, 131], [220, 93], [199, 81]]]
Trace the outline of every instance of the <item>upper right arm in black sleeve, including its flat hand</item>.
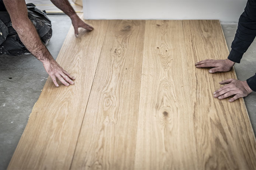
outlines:
[[[256, 0], [249, 0], [245, 11], [241, 14], [238, 21], [235, 38], [231, 45], [231, 51], [228, 59], [214, 60], [210, 59], [197, 62], [197, 68], [212, 67], [210, 73], [229, 71], [236, 63], [240, 63], [243, 53], [249, 48], [256, 36]], [[229, 62], [226, 62], [229, 61]], [[206, 64], [207, 63], [207, 64]], [[233, 65], [232, 65], [232, 64]]]

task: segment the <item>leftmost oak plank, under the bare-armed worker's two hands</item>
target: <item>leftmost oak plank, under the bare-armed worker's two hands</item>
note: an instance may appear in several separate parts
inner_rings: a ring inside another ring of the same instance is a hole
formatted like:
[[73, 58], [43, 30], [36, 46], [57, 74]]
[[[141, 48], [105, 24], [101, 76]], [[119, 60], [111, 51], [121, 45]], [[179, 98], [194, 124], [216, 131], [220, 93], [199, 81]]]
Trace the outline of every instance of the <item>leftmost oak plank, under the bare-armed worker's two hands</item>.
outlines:
[[88, 23], [96, 29], [79, 38], [71, 26], [56, 59], [75, 85], [56, 88], [48, 77], [8, 169], [69, 169], [108, 24]]

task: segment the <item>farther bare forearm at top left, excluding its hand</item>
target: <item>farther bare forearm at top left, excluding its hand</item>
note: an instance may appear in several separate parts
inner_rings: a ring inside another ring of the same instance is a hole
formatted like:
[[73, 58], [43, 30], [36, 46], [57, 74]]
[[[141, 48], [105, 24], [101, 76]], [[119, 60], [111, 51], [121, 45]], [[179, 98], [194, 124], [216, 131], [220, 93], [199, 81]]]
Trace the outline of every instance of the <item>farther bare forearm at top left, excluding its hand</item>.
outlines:
[[66, 15], [68, 15], [70, 18], [74, 17], [76, 15], [75, 10], [70, 5], [68, 0], [51, 0], [52, 3], [58, 7], [60, 10], [62, 10]]

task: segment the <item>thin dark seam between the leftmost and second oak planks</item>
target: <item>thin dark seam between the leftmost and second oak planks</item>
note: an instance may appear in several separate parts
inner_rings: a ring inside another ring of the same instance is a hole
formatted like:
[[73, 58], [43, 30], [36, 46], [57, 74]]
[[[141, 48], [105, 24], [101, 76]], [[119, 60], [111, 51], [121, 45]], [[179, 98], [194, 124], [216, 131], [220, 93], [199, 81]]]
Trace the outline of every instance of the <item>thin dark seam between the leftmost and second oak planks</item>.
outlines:
[[[107, 26], [108, 26], [108, 23], [107, 23]], [[100, 57], [101, 57], [102, 47], [103, 47], [103, 45], [104, 45], [104, 41], [105, 41], [106, 35], [107, 35], [107, 29], [106, 29], [106, 32], [105, 32], [105, 35], [104, 35], [104, 40], [103, 40], [102, 46], [101, 46]], [[100, 57], [98, 58], [98, 62], [100, 61]], [[96, 72], [97, 72], [97, 70], [98, 70], [98, 62], [97, 62], [96, 70], [95, 70], [95, 72], [94, 72], [93, 83], [94, 83], [94, 79], [95, 79]], [[93, 87], [93, 83], [91, 83], [91, 89], [92, 89], [92, 87]], [[85, 113], [86, 113], [86, 109], [87, 109], [87, 105], [88, 105], [88, 102], [89, 102], [90, 95], [91, 95], [91, 90], [90, 90], [89, 97], [88, 97], [88, 100], [87, 100], [87, 103], [86, 103], [86, 108], [85, 108], [85, 111], [84, 111], [84, 116], [85, 116]], [[79, 130], [79, 133], [78, 133], [78, 137], [77, 137], [77, 140], [76, 140], [76, 147], [77, 147], [78, 139], [79, 139], [80, 132], [81, 132], [81, 129], [82, 129], [82, 126], [83, 126], [84, 116], [83, 116], [83, 119], [82, 119], [82, 123], [81, 123], [81, 126], [80, 126], [80, 130]], [[70, 166], [69, 166], [69, 170], [71, 170], [71, 167], [72, 167], [73, 159], [74, 159], [74, 156], [75, 156], [75, 153], [76, 153], [76, 147], [75, 147], [75, 150], [74, 150], [74, 153], [73, 153], [73, 156], [72, 156], [72, 160], [71, 160], [71, 163], [70, 163]]]

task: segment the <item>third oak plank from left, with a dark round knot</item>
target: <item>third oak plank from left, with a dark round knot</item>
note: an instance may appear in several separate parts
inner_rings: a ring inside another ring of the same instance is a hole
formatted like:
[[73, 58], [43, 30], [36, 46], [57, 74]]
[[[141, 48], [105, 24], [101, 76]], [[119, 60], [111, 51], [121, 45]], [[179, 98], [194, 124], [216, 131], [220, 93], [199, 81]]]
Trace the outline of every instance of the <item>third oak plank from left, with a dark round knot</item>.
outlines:
[[135, 169], [195, 169], [182, 21], [146, 21]]

